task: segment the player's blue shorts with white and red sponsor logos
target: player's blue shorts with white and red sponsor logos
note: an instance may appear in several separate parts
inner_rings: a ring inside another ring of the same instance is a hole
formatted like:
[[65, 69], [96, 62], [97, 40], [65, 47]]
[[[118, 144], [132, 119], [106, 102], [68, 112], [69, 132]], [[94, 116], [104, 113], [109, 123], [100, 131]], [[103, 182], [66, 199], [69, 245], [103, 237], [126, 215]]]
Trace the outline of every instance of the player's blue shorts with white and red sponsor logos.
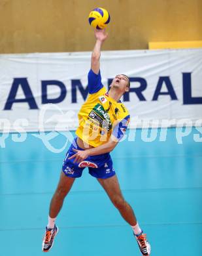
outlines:
[[73, 140], [73, 143], [67, 151], [65, 160], [63, 161], [62, 171], [66, 176], [73, 178], [81, 177], [82, 171], [86, 167], [88, 167], [88, 172], [90, 175], [99, 179], [107, 179], [116, 174], [112, 166], [112, 159], [109, 153], [97, 156], [88, 156], [88, 158], [80, 163], [73, 163], [75, 158], [69, 160], [68, 158], [76, 154], [73, 148], [83, 150], [76, 144], [76, 139], [77, 138]]

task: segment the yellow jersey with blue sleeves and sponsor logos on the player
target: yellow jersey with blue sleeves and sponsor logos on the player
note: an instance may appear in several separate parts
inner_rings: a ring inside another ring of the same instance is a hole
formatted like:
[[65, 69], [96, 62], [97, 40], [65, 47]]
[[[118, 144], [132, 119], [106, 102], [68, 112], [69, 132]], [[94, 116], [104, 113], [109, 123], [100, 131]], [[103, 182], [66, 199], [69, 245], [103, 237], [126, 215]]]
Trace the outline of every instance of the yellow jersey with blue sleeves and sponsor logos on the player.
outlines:
[[88, 73], [89, 95], [78, 112], [76, 135], [91, 146], [104, 144], [113, 135], [122, 139], [129, 123], [129, 112], [121, 101], [116, 102], [101, 83], [101, 74]]

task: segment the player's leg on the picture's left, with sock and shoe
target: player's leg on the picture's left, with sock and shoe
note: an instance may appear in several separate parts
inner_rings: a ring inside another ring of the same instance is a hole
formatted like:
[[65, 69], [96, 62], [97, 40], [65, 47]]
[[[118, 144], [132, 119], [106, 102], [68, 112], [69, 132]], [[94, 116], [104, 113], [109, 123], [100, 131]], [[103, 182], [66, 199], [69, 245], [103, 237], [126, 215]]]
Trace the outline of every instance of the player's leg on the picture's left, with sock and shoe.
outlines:
[[61, 172], [56, 192], [50, 202], [48, 224], [46, 226], [46, 232], [42, 242], [42, 251], [44, 252], [49, 251], [54, 244], [54, 238], [56, 234], [58, 234], [58, 226], [55, 224], [56, 217], [58, 216], [65, 196], [67, 196], [69, 190], [71, 190], [74, 181], [75, 178], [67, 177], [63, 171]]

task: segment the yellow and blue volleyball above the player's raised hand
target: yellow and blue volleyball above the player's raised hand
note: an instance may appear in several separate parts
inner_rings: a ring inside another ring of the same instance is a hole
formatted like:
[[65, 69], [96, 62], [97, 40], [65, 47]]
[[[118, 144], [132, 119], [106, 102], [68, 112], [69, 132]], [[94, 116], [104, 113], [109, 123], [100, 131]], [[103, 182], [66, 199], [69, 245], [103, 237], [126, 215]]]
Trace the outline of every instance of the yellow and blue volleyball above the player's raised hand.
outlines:
[[95, 8], [88, 16], [90, 26], [97, 30], [103, 30], [110, 22], [109, 12], [101, 7]]

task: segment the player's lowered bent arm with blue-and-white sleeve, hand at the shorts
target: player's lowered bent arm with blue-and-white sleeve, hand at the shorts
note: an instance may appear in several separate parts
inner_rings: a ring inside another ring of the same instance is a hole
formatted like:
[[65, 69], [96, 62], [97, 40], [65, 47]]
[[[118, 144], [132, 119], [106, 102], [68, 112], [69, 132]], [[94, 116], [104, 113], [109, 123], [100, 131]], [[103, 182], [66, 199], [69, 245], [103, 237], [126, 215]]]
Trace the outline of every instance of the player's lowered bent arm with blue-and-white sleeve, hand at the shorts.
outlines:
[[88, 150], [75, 149], [76, 154], [71, 156], [69, 159], [75, 158], [74, 162], [79, 163], [80, 161], [88, 158], [88, 156], [96, 156], [111, 152], [112, 150], [114, 150], [118, 142], [124, 137], [128, 123], [129, 115], [122, 119], [120, 122], [118, 122], [118, 124], [116, 124], [112, 131], [110, 139], [105, 144], [97, 146], [96, 148], [90, 148]]

